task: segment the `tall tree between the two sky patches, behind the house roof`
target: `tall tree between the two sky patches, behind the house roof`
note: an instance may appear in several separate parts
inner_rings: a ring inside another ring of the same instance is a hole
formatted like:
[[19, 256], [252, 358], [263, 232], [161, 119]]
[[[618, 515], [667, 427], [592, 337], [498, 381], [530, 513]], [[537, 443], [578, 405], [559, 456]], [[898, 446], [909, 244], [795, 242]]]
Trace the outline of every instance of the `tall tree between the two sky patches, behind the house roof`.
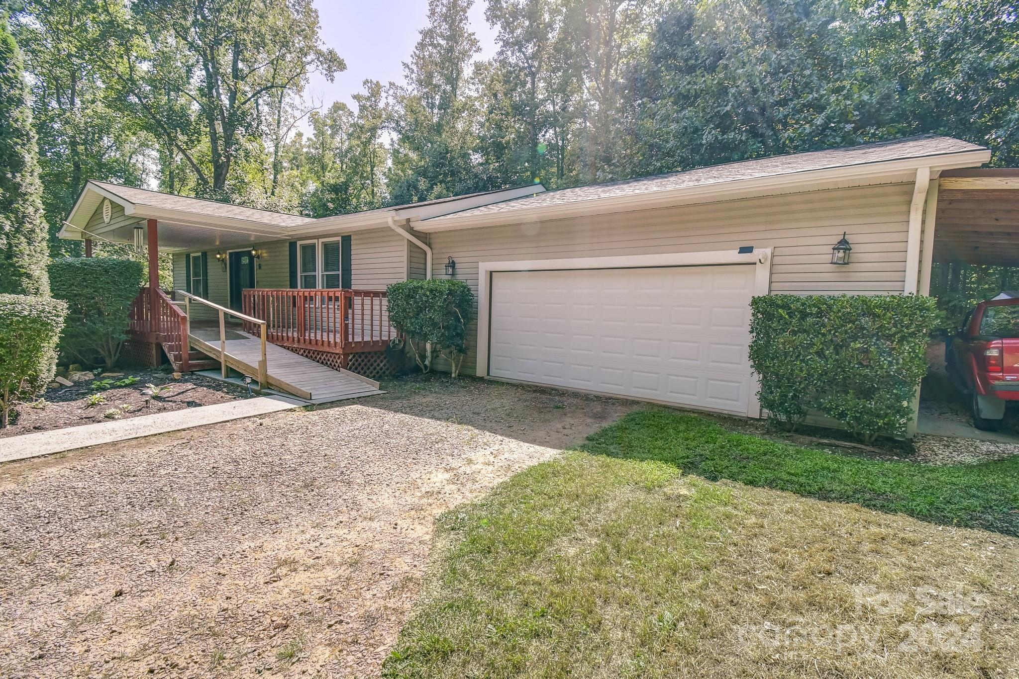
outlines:
[[428, 25], [404, 63], [406, 88], [390, 88], [396, 136], [389, 192], [397, 203], [445, 197], [478, 186], [472, 154], [476, 100], [471, 60], [480, 47], [468, 27], [473, 0], [429, 0]]

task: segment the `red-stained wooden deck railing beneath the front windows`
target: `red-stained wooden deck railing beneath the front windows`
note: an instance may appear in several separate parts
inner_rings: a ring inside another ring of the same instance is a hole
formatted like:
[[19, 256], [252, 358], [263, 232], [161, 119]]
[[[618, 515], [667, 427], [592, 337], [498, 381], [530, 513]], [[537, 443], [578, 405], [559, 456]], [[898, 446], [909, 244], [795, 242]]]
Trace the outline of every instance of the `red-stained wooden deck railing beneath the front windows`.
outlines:
[[244, 310], [265, 319], [269, 341], [280, 346], [380, 351], [395, 336], [380, 290], [252, 288], [244, 291]]

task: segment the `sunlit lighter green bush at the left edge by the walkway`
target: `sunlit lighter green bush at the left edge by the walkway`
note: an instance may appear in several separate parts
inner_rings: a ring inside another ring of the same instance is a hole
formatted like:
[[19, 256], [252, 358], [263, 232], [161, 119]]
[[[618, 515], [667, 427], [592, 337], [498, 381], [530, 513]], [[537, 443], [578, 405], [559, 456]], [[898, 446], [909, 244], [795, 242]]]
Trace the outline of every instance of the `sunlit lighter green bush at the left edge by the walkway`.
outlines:
[[49, 297], [0, 294], [0, 429], [15, 403], [53, 379], [67, 304]]

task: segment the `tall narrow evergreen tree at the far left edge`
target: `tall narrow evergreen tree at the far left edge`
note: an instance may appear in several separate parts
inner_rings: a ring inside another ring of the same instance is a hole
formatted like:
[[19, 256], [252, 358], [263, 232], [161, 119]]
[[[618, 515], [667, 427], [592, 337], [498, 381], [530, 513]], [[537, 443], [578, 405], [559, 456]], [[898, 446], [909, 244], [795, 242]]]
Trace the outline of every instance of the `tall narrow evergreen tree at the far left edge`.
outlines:
[[0, 293], [50, 294], [41, 192], [21, 55], [0, 14]]

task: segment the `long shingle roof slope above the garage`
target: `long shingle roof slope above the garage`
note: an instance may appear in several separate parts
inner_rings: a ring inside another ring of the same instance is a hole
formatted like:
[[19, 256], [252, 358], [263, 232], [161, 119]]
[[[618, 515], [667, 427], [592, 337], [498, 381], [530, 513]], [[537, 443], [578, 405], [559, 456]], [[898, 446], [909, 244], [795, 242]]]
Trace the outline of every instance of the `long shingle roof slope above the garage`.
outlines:
[[619, 197], [637, 193], [703, 186], [743, 179], [757, 179], [881, 161], [981, 150], [983, 150], [983, 147], [962, 142], [951, 136], [923, 134], [856, 147], [810, 151], [786, 156], [758, 158], [737, 163], [726, 163], [723, 165], [712, 165], [684, 172], [625, 179], [605, 184], [560, 188], [536, 195], [512, 199], [501, 203], [463, 210], [449, 215], [433, 217], [425, 220], [425, 222], [433, 224], [442, 220], [466, 216], [494, 215], [501, 212], [558, 206], [580, 201]]

